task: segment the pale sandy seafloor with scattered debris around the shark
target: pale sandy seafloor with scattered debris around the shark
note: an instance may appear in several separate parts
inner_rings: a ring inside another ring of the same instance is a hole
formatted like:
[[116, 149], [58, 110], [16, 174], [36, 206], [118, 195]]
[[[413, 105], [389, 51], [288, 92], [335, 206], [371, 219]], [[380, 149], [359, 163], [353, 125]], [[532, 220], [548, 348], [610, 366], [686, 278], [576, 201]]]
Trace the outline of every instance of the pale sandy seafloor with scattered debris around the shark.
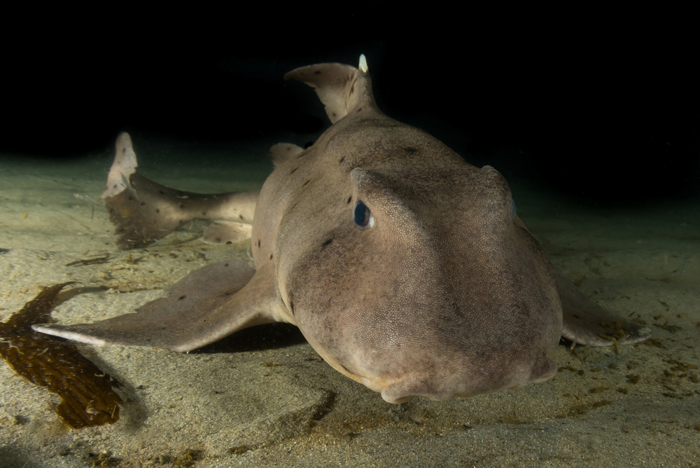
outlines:
[[[252, 189], [272, 167], [260, 162], [267, 144], [227, 153], [132, 137], [141, 172], [183, 190]], [[208, 159], [239, 153], [252, 157]], [[196, 223], [146, 249], [118, 251], [99, 200], [112, 154], [64, 163], [0, 159], [3, 320], [40, 286], [74, 280], [104, 287], [53, 312], [59, 323], [90, 322], [162, 296], [207, 263], [249, 259], [249, 242], [205, 245]], [[179, 159], [186, 155], [195, 158]], [[188, 165], [193, 159], [200, 164]], [[510, 185], [521, 219], [552, 263], [605, 307], [643, 319], [660, 341], [619, 347], [618, 355], [561, 345], [559, 366], [582, 372], [562, 370], [521, 390], [401, 405], [337, 373], [286, 325], [241, 331], [188, 355], [79, 345], [123, 384], [121, 419], [68, 429], [50, 407], [57, 397], [3, 362], [0, 466], [172, 466], [186, 453], [196, 467], [700, 466], [700, 383], [693, 382], [700, 364], [699, 201], [610, 208], [528, 181]], [[102, 254], [109, 261], [66, 266]], [[233, 450], [240, 446], [247, 451]]]

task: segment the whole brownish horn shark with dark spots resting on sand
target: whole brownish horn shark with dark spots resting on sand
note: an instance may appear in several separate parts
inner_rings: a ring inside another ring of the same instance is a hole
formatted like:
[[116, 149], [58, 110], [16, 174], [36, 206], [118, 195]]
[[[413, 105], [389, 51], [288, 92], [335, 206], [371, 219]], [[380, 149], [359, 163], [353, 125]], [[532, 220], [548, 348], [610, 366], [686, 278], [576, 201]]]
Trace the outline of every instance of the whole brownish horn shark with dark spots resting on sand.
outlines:
[[136, 172], [123, 133], [103, 194], [120, 249], [214, 219], [205, 240], [250, 235], [255, 268], [214, 263], [136, 313], [37, 331], [187, 352], [288, 322], [389, 403], [543, 382], [556, 372], [561, 336], [585, 345], [650, 336], [555, 275], [498, 171], [384, 115], [364, 56], [358, 68], [316, 64], [285, 78], [316, 90], [332, 126], [308, 149], [273, 146], [274, 171], [259, 193], [156, 184]]

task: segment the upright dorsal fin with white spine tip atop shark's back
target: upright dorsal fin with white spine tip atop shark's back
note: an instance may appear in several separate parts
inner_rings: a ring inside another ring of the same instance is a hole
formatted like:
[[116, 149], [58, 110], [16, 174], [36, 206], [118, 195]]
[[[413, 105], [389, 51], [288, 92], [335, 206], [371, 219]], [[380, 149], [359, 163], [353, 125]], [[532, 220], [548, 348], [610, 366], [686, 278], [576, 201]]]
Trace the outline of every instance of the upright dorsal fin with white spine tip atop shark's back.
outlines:
[[362, 107], [377, 109], [364, 55], [360, 56], [360, 69], [339, 63], [322, 63], [292, 70], [284, 79], [302, 81], [314, 88], [325, 104], [325, 113], [331, 123]]

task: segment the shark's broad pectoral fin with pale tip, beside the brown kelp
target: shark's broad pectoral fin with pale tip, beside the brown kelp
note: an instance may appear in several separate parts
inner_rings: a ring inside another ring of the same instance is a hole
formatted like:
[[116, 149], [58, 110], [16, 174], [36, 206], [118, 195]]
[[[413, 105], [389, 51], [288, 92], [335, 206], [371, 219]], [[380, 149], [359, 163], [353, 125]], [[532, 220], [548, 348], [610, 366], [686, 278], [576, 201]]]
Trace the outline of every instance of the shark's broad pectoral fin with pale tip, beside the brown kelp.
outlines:
[[135, 313], [92, 324], [33, 328], [82, 343], [186, 352], [248, 326], [283, 321], [275, 310], [279, 301], [266, 294], [270, 290], [269, 273], [256, 273], [244, 261], [220, 261], [184, 277], [169, 288], [167, 297], [146, 303]]

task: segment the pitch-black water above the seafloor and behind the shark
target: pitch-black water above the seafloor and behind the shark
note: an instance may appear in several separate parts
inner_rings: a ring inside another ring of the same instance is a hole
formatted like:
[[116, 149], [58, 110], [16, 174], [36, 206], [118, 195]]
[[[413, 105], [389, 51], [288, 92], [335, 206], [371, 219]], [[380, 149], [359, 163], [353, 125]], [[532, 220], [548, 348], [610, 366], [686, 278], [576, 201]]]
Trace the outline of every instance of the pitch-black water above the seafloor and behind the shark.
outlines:
[[601, 201], [700, 191], [689, 12], [329, 5], [8, 15], [0, 151], [86, 157], [122, 130], [303, 144], [328, 121], [283, 74], [365, 53], [380, 109], [475, 165]]

